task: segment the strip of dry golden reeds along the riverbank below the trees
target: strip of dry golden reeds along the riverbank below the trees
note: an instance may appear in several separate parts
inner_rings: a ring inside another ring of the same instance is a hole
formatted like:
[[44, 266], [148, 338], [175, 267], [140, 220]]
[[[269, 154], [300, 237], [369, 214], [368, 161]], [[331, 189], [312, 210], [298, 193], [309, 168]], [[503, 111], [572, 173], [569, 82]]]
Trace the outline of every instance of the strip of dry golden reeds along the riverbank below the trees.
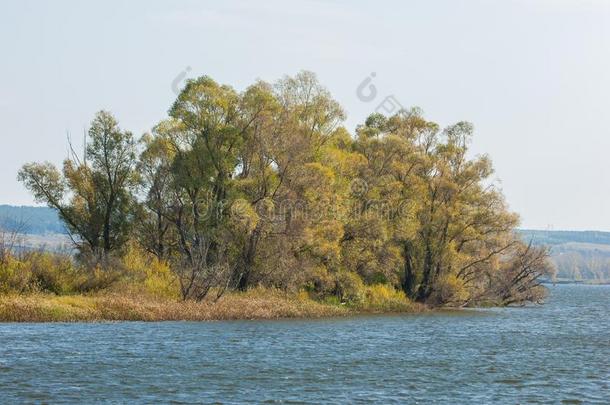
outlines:
[[177, 301], [146, 296], [2, 295], [0, 322], [213, 321], [236, 319], [321, 318], [364, 313], [422, 312], [423, 305], [392, 297], [365, 299], [358, 305], [319, 302], [307, 294], [273, 290], [230, 293], [217, 302]]

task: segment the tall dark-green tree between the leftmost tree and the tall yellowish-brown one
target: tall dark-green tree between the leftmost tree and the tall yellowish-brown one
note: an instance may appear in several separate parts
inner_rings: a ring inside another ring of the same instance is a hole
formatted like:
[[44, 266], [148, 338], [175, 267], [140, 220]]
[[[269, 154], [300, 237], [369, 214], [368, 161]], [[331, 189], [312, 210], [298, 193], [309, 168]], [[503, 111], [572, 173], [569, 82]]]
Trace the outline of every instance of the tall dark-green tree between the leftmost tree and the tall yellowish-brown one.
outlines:
[[201, 300], [232, 280], [234, 177], [243, 167], [247, 132], [262, 112], [249, 107], [231, 87], [204, 76], [187, 83], [163, 124], [174, 155], [168, 218], [177, 233], [184, 298]]

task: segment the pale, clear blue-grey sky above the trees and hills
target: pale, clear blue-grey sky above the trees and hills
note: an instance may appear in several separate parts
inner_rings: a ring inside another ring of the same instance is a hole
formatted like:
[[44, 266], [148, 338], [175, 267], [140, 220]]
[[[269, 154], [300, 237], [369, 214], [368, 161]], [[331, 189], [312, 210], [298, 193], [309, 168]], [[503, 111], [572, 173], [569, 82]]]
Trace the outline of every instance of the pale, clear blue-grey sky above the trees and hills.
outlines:
[[101, 109], [140, 135], [185, 78], [243, 90], [300, 70], [350, 131], [387, 97], [472, 122], [521, 227], [610, 231], [604, 0], [3, 0], [0, 204], [32, 205], [19, 168], [60, 164]]

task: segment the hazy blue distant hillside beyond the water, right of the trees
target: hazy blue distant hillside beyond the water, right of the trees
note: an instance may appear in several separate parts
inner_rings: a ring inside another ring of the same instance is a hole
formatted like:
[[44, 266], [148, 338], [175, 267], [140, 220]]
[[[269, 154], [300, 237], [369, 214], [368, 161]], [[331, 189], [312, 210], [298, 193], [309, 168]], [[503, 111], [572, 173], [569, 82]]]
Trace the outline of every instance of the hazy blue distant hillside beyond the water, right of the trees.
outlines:
[[519, 232], [526, 242], [551, 247], [558, 280], [610, 283], [610, 232]]

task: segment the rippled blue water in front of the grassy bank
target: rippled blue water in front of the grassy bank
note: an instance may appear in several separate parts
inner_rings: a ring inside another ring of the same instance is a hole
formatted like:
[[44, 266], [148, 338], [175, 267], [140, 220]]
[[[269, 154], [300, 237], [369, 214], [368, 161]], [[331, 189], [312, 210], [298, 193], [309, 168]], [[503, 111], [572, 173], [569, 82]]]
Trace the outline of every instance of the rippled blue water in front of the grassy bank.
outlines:
[[610, 286], [348, 319], [1, 324], [1, 403], [610, 403]]

